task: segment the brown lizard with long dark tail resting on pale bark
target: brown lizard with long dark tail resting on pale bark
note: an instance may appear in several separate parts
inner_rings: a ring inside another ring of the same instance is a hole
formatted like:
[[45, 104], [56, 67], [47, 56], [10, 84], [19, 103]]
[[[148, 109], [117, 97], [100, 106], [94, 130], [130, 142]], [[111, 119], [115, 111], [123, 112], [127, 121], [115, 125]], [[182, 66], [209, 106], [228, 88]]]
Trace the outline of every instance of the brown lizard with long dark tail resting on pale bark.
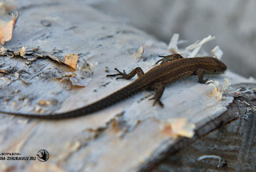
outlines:
[[[121, 72], [117, 68], [114, 68], [118, 74], [108, 74], [106, 77], [119, 76], [116, 79], [130, 79], [137, 74], [138, 78], [128, 86], [123, 87], [121, 90], [117, 90], [113, 94], [110, 94], [105, 98], [102, 98], [87, 106], [82, 106], [77, 110], [70, 110], [58, 114], [25, 114], [2, 110], [0, 110], [0, 113], [14, 114], [26, 118], [55, 120], [76, 118], [82, 115], [92, 114], [108, 106], [112, 106], [115, 103], [121, 102], [134, 94], [138, 94], [138, 92], [141, 92], [142, 90], [154, 90], [154, 98], [150, 99], [154, 99], [154, 105], [158, 103], [158, 105], [163, 106], [160, 98], [162, 97], [166, 85], [192, 75], [198, 75], [198, 82], [206, 83], [208, 78], [203, 79], [204, 74], [223, 74], [227, 69], [227, 66], [223, 62], [214, 57], [183, 58], [181, 54], [170, 54], [159, 57], [162, 58], [158, 61], [161, 62], [160, 65], [155, 66], [145, 74], [140, 67], [136, 67], [134, 70], [131, 70], [129, 74], [126, 74], [125, 70]], [[158, 62], [156, 62], [156, 64], [158, 64]]]

